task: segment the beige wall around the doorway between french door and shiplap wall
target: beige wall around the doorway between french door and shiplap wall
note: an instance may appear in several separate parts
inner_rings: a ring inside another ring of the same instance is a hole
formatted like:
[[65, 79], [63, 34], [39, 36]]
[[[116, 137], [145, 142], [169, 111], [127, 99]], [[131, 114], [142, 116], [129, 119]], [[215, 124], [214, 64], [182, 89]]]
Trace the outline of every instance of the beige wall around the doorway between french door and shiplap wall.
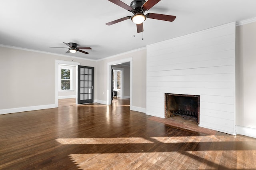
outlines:
[[133, 51], [97, 61], [98, 95], [102, 103], [107, 101], [107, 65], [110, 62], [132, 58], [132, 103], [134, 107], [146, 109], [146, 49]]

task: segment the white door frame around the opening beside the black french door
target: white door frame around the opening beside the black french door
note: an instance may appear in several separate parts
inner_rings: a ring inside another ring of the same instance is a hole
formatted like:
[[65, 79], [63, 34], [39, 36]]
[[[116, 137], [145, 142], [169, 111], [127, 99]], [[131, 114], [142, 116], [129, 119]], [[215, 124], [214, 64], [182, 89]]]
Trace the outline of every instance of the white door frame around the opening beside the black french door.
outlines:
[[[74, 62], [74, 61], [65, 61], [65, 60], [58, 60], [55, 59], [55, 107], [58, 107], [58, 92], [59, 92], [59, 86], [58, 86], [58, 75], [59, 75], [59, 64], [64, 64], [64, 65], [70, 65], [70, 66], [75, 66], [76, 67], [76, 77], [74, 77], [76, 84], [78, 83], [78, 65], [80, 65], [80, 63], [78, 62]], [[77, 105], [77, 88], [76, 88], [76, 105]]]

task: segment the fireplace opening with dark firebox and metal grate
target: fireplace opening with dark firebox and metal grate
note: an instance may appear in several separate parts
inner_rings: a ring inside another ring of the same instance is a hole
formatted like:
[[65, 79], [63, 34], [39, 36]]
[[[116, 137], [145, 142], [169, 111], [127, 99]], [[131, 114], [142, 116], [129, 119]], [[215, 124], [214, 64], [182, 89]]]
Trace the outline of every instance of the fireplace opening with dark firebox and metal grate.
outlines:
[[182, 116], [199, 124], [199, 95], [164, 94], [165, 118]]

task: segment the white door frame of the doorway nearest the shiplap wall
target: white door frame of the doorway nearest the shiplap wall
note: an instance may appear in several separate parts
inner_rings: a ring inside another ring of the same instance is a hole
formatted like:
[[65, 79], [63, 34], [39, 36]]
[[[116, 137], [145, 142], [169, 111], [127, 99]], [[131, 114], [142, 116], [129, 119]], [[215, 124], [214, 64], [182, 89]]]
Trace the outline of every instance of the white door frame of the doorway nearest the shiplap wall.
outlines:
[[112, 89], [112, 65], [117, 65], [121, 63], [126, 63], [130, 62], [130, 108], [132, 107], [132, 57], [126, 58], [126, 59], [120, 59], [112, 62], [108, 62], [107, 66], [107, 105], [111, 105], [112, 102], [112, 94], [111, 94], [111, 89]]

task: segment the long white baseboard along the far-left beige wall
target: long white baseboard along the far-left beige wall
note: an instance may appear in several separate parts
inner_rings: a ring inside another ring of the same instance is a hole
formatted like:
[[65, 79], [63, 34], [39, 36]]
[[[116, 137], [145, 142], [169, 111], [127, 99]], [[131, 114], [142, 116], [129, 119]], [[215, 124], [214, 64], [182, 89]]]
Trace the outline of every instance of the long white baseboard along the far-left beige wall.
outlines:
[[0, 110], [0, 115], [8, 114], [8, 113], [36, 111], [36, 110], [41, 110], [41, 109], [51, 109], [51, 108], [55, 108], [55, 107], [58, 107], [58, 106], [56, 106], [56, 104], [52, 104], [52, 105], [18, 107], [18, 108], [12, 108], [12, 109], [1, 109]]

